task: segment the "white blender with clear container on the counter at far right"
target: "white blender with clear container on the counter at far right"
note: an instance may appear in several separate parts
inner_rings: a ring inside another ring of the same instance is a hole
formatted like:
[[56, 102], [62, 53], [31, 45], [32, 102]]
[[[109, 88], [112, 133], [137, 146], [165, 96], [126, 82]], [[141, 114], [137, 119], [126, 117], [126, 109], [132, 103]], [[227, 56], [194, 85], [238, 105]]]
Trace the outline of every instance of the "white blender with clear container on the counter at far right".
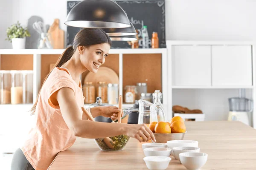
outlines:
[[252, 125], [253, 100], [245, 98], [245, 89], [239, 89], [239, 97], [229, 98], [229, 121], [240, 121]]

